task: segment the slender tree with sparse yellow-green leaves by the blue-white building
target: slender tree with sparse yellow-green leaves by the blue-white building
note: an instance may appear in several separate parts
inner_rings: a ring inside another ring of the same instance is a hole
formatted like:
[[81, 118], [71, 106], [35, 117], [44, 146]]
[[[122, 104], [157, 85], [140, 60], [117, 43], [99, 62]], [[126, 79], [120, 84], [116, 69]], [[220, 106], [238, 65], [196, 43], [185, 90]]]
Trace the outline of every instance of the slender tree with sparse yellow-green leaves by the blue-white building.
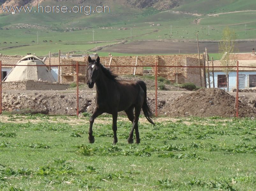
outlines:
[[[236, 33], [234, 30], [230, 30], [226, 27], [222, 31], [222, 40], [219, 42], [219, 53], [222, 55], [221, 64], [223, 66], [233, 65], [234, 59], [232, 59], [232, 53], [238, 51], [236, 49]], [[229, 72], [230, 68], [223, 68], [223, 72], [227, 78], [227, 91], [229, 91]]]

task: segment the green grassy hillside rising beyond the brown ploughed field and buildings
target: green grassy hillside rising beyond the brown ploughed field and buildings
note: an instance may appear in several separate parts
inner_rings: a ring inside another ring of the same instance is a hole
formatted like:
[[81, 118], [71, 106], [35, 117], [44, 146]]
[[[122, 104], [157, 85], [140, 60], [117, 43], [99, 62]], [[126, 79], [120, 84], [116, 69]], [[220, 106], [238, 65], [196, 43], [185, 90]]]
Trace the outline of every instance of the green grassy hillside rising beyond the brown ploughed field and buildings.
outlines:
[[[110, 41], [108, 43], [120, 42], [123, 39], [191, 41], [196, 40], [196, 33], [199, 34], [200, 40], [220, 40], [223, 28], [229, 25], [236, 31], [238, 39], [255, 38], [256, 11], [228, 13], [247, 9], [256, 10], [256, 4], [252, 0], [246, 2], [241, 0], [183, 0], [179, 1], [179, 7], [164, 11], [155, 8], [139, 9], [133, 4], [128, 6], [125, 4], [126, 1], [107, 2], [109, 2], [110, 13], [91, 15], [84, 15], [83, 12], [0, 14], [0, 27], [3, 29], [0, 30], [0, 53], [22, 55], [27, 51], [33, 51], [42, 56], [48, 51], [55, 52], [58, 49], [62, 49], [63, 52], [87, 51], [94, 46], [91, 44], [92, 31], [94, 31], [94, 41]], [[62, 3], [68, 7], [74, 6], [74, 3], [69, 1]], [[92, 3], [92, 7], [96, 3]], [[56, 5], [56, 2], [47, 1], [41, 5]], [[226, 14], [208, 15], [213, 13]], [[37, 32], [39, 45], [35, 45], [37, 44]], [[48, 43], [43, 43], [43, 41], [48, 41]], [[16, 47], [22, 45], [30, 46], [26, 46], [26, 49]]]

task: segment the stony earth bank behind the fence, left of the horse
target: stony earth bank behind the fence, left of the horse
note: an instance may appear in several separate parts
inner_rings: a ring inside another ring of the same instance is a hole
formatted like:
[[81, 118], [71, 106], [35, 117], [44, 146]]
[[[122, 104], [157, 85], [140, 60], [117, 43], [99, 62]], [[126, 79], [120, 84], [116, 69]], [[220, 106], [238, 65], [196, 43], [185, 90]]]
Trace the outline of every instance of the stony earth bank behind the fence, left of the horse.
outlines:
[[[79, 113], [91, 107], [96, 93], [80, 91]], [[3, 111], [15, 113], [42, 113], [51, 115], [76, 115], [77, 96], [75, 92], [64, 91], [27, 91], [22, 93], [3, 93]]]

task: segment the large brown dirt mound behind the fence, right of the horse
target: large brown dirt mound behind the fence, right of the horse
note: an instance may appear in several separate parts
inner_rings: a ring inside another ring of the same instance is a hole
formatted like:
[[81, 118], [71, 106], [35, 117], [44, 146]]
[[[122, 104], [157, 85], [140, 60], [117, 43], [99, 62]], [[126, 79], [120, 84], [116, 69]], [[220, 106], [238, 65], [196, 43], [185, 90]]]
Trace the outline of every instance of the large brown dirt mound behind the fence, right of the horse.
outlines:
[[[236, 115], [234, 109], [235, 97], [222, 89], [200, 89], [189, 95], [182, 95], [170, 105], [165, 105], [169, 116], [223, 116]], [[255, 117], [256, 110], [248, 104], [239, 101], [239, 117]]]

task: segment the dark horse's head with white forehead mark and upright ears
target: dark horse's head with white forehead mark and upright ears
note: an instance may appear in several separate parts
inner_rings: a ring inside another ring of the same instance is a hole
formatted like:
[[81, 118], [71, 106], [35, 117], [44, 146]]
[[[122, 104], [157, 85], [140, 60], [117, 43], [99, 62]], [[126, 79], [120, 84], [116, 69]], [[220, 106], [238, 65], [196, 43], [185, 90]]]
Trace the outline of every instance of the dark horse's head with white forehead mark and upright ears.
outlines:
[[93, 88], [94, 83], [98, 80], [99, 78], [99, 69], [100, 69], [100, 63], [99, 63], [99, 56], [97, 57], [96, 60], [91, 59], [91, 57], [88, 57], [88, 80], [87, 84], [89, 88]]

